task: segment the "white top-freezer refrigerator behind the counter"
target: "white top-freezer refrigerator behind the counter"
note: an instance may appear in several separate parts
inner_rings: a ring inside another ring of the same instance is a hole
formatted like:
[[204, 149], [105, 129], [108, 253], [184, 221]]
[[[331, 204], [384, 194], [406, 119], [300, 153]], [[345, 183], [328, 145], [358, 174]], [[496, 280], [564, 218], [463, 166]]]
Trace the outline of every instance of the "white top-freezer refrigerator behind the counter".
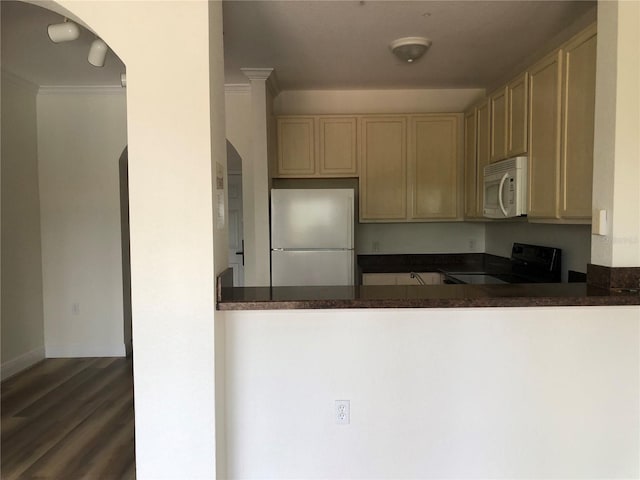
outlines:
[[353, 285], [354, 191], [271, 190], [271, 285]]

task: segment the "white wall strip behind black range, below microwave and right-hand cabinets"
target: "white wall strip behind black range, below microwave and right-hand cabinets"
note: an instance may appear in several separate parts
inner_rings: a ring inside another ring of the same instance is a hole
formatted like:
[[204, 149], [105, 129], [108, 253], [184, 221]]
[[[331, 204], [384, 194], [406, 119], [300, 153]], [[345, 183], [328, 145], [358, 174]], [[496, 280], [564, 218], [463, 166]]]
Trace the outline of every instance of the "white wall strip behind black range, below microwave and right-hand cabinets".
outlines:
[[562, 281], [568, 270], [587, 272], [591, 255], [591, 225], [552, 225], [525, 222], [486, 224], [486, 253], [511, 256], [513, 242], [562, 249]]

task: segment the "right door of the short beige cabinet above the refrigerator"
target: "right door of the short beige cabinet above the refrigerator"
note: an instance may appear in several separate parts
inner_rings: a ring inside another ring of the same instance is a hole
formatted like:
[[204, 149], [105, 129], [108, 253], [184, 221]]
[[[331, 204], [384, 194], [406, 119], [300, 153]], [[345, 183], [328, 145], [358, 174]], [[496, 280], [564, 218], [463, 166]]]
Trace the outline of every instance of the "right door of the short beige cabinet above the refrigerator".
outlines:
[[354, 176], [356, 158], [356, 118], [320, 117], [318, 120], [318, 168], [322, 176]]

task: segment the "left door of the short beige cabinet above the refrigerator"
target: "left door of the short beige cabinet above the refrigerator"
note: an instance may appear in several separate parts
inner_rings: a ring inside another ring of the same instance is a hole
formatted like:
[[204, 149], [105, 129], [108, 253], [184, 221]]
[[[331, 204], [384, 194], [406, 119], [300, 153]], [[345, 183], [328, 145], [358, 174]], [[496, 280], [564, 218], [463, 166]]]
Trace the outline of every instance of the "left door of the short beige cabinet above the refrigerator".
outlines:
[[279, 118], [278, 176], [312, 176], [315, 169], [313, 117]]

